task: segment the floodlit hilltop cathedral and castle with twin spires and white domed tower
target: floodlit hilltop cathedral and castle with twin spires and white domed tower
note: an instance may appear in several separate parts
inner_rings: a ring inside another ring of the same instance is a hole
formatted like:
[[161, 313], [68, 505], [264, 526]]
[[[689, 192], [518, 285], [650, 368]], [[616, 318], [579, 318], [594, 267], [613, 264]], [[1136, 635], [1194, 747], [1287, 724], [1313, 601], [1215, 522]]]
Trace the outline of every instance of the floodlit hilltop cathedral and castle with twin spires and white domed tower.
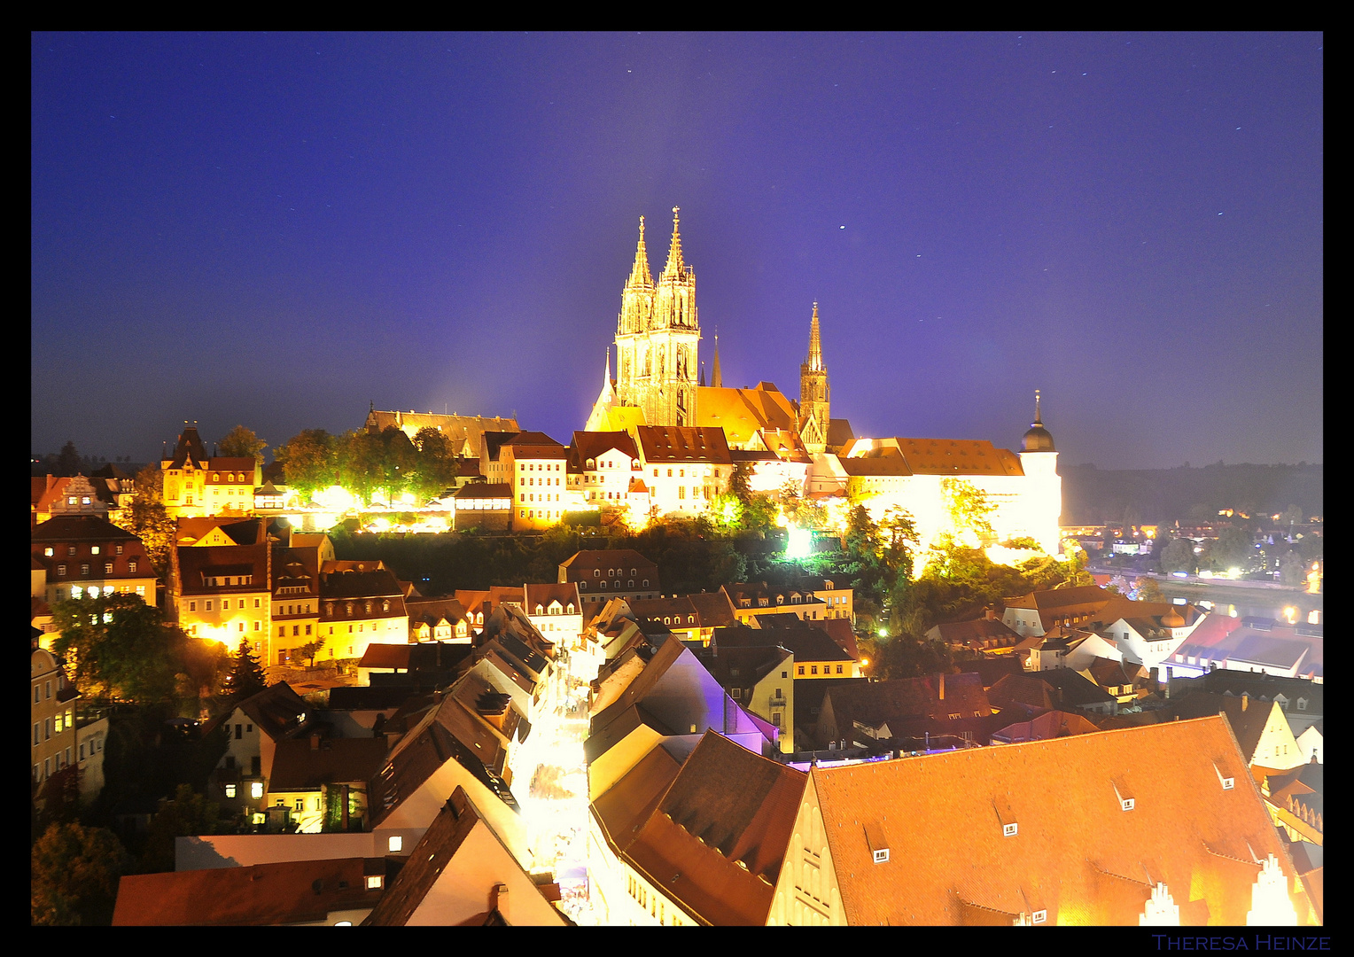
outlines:
[[915, 517], [922, 544], [949, 528], [946, 502], [953, 481], [963, 481], [994, 505], [991, 524], [1001, 540], [1032, 537], [1049, 554], [1060, 551], [1062, 478], [1037, 394], [1034, 421], [1018, 455], [986, 440], [857, 437], [850, 422], [831, 417], [816, 302], [808, 355], [799, 367], [798, 402], [770, 382], [726, 388], [718, 337], [705, 384], [696, 273], [682, 256], [677, 214], [673, 207], [668, 263], [658, 282], [649, 268], [645, 219], [639, 219], [635, 261], [616, 318], [616, 378], [611, 378], [608, 352], [586, 432], [639, 436], [655, 428], [722, 429], [733, 462], [751, 468], [753, 490], [776, 491], [792, 481], [812, 499], [864, 504], [876, 520], [902, 508]]

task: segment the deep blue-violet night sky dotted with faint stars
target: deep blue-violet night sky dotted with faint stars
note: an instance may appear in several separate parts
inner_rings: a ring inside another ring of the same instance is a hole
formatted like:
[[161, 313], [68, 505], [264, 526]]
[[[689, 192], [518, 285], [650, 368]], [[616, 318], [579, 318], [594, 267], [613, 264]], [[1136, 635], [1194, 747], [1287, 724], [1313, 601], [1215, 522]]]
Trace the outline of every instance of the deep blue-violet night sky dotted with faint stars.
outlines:
[[[378, 409], [567, 443], [638, 217], [856, 435], [1323, 460], [1323, 38], [37, 34], [32, 452]], [[271, 451], [271, 449], [269, 449]]]

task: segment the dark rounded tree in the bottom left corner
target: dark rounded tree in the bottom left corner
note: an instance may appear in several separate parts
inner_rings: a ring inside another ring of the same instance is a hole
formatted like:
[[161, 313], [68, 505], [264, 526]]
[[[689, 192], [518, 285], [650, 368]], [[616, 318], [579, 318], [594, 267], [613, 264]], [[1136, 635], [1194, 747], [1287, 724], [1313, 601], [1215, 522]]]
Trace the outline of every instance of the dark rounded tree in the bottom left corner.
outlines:
[[118, 878], [130, 858], [102, 827], [51, 824], [28, 855], [34, 925], [111, 925]]

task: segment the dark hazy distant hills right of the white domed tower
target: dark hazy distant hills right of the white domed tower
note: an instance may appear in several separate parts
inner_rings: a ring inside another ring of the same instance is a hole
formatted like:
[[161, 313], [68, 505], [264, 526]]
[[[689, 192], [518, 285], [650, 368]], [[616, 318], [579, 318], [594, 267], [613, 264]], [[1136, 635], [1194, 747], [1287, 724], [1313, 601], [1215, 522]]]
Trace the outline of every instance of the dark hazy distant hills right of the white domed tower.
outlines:
[[1273, 514], [1289, 505], [1304, 517], [1324, 514], [1324, 467], [1202, 466], [1101, 470], [1063, 466], [1063, 524], [1104, 525], [1216, 517], [1219, 509]]

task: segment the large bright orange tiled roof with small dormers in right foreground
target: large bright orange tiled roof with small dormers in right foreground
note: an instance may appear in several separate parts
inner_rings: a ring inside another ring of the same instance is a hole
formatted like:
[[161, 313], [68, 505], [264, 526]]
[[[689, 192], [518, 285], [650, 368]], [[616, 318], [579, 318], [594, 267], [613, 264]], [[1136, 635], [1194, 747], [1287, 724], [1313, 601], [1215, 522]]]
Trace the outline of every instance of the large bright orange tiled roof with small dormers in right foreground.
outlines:
[[1243, 925], [1259, 862], [1293, 865], [1255, 789], [1219, 776], [1244, 776], [1219, 717], [811, 772], [852, 925], [1137, 925], [1158, 881], [1182, 922]]

